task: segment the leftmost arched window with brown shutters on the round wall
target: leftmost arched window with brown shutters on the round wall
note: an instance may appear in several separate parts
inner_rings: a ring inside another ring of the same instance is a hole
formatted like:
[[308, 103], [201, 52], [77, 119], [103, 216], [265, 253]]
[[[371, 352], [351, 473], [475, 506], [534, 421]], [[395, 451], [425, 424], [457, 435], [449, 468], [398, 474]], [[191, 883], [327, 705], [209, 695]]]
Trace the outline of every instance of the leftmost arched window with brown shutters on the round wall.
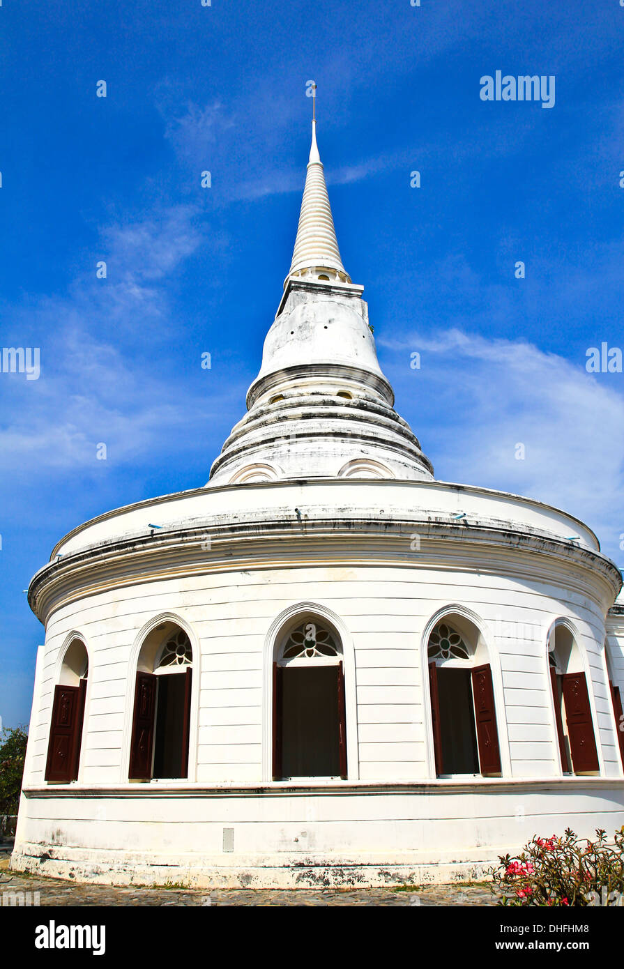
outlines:
[[46, 762], [46, 780], [52, 784], [78, 780], [88, 669], [84, 643], [73, 640], [65, 650], [54, 687]]

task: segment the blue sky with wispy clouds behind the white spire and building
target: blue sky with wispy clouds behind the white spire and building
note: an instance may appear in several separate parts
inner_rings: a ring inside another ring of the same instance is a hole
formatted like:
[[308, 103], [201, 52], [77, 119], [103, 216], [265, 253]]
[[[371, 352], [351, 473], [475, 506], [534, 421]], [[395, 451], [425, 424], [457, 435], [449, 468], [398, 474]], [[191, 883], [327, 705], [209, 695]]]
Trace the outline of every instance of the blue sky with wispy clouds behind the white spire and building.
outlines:
[[[0, 33], [0, 345], [41, 348], [38, 380], [0, 373], [5, 726], [29, 717], [22, 589], [55, 542], [202, 485], [242, 416], [311, 78], [343, 262], [436, 476], [563, 507], [624, 564], [624, 376], [585, 370], [624, 339], [619, 0], [4, 0]], [[554, 107], [482, 101], [496, 70], [553, 75]]]

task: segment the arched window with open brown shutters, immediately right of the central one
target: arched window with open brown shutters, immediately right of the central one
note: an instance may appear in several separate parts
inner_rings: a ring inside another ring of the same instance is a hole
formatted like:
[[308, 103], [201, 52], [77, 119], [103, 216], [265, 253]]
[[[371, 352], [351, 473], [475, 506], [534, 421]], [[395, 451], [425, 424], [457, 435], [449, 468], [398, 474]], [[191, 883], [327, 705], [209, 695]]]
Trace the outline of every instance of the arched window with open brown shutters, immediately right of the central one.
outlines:
[[436, 774], [500, 774], [492, 673], [477, 627], [445, 616], [427, 642]]

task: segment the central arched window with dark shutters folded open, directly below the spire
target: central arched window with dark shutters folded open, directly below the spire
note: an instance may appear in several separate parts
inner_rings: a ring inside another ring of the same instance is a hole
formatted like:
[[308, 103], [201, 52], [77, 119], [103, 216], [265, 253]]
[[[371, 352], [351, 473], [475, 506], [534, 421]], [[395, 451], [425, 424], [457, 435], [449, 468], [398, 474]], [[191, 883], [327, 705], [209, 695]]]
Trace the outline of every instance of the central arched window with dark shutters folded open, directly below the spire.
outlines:
[[273, 663], [273, 778], [347, 777], [340, 637], [325, 620], [301, 617]]

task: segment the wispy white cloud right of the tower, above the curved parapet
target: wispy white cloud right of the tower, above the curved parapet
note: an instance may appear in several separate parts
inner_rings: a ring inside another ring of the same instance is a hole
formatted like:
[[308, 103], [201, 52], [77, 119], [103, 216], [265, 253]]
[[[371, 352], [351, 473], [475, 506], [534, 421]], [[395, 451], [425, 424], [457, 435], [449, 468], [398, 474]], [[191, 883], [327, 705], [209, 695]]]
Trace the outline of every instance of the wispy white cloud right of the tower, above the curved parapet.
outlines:
[[[618, 564], [624, 532], [621, 374], [588, 374], [523, 340], [452, 328], [380, 341], [399, 410], [436, 476], [537, 498], [593, 527]], [[421, 353], [411, 370], [410, 354]], [[524, 459], [517, 459], [522, 444]]]

